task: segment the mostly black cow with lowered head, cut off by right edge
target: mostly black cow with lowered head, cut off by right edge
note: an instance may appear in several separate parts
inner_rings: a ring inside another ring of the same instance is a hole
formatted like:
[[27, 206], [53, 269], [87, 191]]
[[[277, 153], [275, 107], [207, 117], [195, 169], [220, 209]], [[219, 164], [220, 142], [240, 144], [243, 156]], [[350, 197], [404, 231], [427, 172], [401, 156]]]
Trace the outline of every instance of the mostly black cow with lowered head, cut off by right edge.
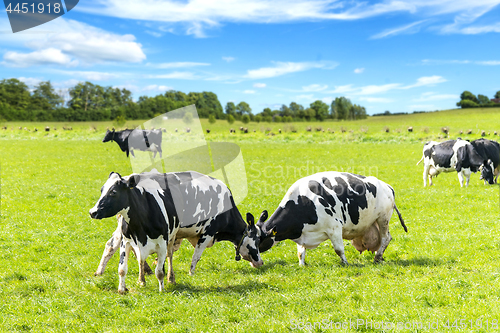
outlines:
[[487, 160], [481, 168], [481, 179], [484, 179], [485, 184], [496, 184], [500, 173], [500, 144], [493, 140], [477, 139], [472, 141], [471, 145], [484, 160]]

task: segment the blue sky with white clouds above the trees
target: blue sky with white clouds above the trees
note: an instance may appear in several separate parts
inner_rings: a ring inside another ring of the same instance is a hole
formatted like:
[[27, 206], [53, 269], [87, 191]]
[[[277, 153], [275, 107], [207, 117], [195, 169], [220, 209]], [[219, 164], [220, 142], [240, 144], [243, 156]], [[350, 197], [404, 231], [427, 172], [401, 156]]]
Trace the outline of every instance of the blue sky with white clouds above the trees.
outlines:
[[464, 90], [493, 98], [499, 37], [500, 0], [81, 0], [16, 34], [0, 12], [0, 78], [213, 91], [253, 113], [340, 96], [369, 114], [433, 111]]

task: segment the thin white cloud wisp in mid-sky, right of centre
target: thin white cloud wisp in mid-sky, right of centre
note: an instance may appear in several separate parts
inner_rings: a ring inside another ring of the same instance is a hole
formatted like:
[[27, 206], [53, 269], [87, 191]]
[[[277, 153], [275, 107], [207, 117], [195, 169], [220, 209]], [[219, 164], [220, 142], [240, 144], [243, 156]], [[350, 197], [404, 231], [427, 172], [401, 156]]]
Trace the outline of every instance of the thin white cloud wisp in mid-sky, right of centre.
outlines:
[[282, 76], [289, 73], [302, 72], [313, 68], [333, 69], [337, 66], [334, 63], [326, 62], [273, 62], [274, 67], [262, 67], [259, 69], [249, 69], [244, 76], [248, 79], [268, 79]]

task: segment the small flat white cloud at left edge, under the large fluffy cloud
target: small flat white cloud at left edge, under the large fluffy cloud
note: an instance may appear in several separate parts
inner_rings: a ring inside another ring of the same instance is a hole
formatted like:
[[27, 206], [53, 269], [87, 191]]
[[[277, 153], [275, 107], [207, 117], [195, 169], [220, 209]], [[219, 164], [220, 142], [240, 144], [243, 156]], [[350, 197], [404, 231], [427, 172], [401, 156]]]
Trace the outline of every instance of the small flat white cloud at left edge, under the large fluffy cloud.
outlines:
[[75, 66], [78, 62], [55, 48], [48, 48], [31, 53], [9, 51], [3, 56], [3, 65], [12, 67], [29, 67], [33, 65]]

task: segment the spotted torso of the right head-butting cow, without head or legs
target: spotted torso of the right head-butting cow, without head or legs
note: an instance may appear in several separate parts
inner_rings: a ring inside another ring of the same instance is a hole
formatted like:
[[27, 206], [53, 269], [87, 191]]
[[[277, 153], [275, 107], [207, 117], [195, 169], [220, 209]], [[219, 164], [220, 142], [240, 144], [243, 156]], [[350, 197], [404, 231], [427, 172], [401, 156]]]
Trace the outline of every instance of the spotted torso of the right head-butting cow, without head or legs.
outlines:
[[352, 239], [363, 235], [381, 214], [392, 212], [393, 205], [394, 191], [375, 177], [333, 171], [317, 173], [290, 187], [267, 229], [273, 225], [283, 229], [287, 225], [294, 234], [278, 230], [278, 235], [294, 239], [304, 232], [331, 229], [340, 221], [343, 238]]

